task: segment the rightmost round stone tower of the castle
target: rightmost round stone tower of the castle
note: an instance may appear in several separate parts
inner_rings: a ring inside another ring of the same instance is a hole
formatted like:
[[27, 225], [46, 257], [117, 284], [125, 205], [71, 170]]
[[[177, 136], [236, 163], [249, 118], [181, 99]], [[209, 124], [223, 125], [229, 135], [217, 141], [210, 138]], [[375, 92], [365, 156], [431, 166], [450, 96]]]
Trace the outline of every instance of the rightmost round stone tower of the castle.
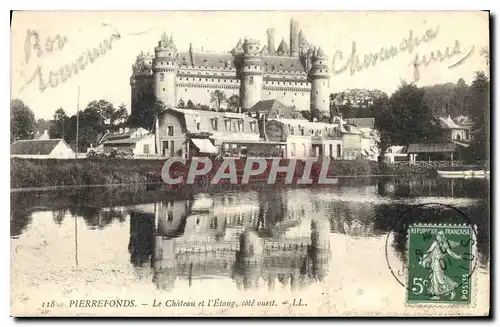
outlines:
[[311, 82], [311, 110], [318, 109], [323, 115], [330, 116], [330, 72], [328, 57], [321, 48], [313, 50], [311, 70], [308, 80]]

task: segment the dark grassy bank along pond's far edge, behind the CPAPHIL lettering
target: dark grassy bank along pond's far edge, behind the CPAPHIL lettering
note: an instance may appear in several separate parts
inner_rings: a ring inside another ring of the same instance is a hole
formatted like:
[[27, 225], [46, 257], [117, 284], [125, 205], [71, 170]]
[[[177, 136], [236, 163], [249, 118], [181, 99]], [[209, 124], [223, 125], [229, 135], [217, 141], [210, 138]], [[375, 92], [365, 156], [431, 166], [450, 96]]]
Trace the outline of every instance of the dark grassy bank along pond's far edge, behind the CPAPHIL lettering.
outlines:
[[[280, 166], [284, 167], [290, 159], [281, 159]], [[123, 160], [123, 159], [21, 159], [10, 160], [10, 189], [11, 192], [55, 190], [75, 187], [125, 186], [125, 185], [158, 185], [166, 184], [162, 178], [162, 169], [165, 160]], [[272, 171], [272, 160], [267, 160], [267, 168], [260, 174], [251, 175], [249, 183], [266, 184]], [[309, 172], [305, 171], [305, 161], [297, 160], [293, 180], [287, 184], [298, 184], [297, 180], [304, 174], [309, 174], [312, 185], [331, 185], [323, 178], [370, 178], [427, 175], [429, 170], [398, 169], [386, 164], [379, 164], [366, 160], [333, 160], [326, 168], [322, 177], [323, 168], [318, 162], [313, 164]], [[189, 175], [190, 164], [173, 164], [170, 166], [171, 176], [179, 176], [186, 181]], [[214, 162], [210, 171], [204, 175], [197, 175], [193, 185], [210, 183], [220, 163]], [[237, 160], [236, 175], [241, 184], [242, 175], [246, 168], [246, 159]], [[321, 171], [321, 174], [320, 174]], [[292, 172], [290, 172], [292, 173]], [[285, 171], [277, 173], [276, 184], [285, 184]], [[321, 181], [321, 183], [320, 183]], [[218, 184], [227, 187], [229, 180], [224, 178]], [[242, 186], [244, 186], [244, 183]], [[310, 184], [306, 184], [310, 185]], [[168, 185], [171, 189], [180, 189], [189, 185], [183, 182], [178, 185]]]

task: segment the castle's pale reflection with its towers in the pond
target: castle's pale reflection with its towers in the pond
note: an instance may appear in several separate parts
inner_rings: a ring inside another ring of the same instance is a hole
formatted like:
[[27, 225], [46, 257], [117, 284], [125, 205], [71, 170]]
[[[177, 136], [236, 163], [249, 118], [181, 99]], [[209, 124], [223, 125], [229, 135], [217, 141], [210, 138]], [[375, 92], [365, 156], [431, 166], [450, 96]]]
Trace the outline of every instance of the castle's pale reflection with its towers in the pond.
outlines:
[[[151, 262], [153, 282], [172, 290], [203, 278], [231, 278], [240, 289], [302, 288], [328, 273], [330, 221], [301, 190], [198, 194], [130, 211], [131, 261]], [[303, 192], [303, 191], [302, 191]]]

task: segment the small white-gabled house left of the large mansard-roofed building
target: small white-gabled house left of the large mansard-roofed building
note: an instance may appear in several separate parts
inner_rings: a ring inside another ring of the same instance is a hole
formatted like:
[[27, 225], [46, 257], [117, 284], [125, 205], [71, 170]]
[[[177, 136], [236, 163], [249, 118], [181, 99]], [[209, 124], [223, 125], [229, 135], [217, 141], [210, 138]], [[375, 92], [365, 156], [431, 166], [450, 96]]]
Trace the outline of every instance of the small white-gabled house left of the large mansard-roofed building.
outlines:
[[128, 154], [134, 158], [156, 155], [155, 137], [146, 134], [134, 138], [108, 139], [102, 143], [104, 153], [115, 150], [120, 154]]

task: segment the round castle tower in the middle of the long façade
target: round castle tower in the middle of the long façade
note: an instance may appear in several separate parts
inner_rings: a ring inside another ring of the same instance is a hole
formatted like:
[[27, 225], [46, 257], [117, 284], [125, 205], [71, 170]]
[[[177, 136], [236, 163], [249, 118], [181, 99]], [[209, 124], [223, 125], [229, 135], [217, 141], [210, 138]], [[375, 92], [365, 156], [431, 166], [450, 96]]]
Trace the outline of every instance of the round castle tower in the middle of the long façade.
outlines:
[[260, 50], [259, 41], [245, 39], [243, 63], [240, 69], [240, 96], [243, 110], [250, 109], [261, 100], [263, 76]]

